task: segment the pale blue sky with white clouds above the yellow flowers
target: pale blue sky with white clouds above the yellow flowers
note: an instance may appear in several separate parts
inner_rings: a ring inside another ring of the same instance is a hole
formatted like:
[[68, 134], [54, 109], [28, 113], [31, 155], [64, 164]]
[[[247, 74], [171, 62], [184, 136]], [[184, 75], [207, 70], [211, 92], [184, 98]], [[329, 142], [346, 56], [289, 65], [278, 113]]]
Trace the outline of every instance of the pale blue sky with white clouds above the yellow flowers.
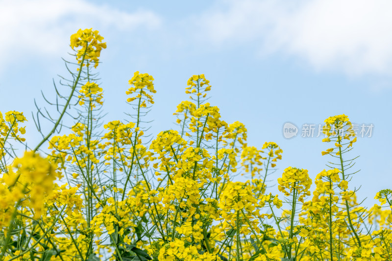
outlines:
[[[70, 35], [94, 28], [107, 42], [98, 67], [106, 121], [130, 110], [125, 91], [140, 71], [155, 78], [151, 133], [175, 128], [188, 78], [204, 73], [209, 102], [226, 122], [245, 124], [248, 145], [283, 149], [271, 179], [295, 166], [314, 180], [331, 160], [321, 156], [330, 145], [302, 138], [301, 126], [346, 114], [374, 125], [371, 138], [354, 144], [361, 171], [349, 186], [362, 186], [360, 199], [371, 206], [377, 191], [392, 188], [391, 10], [388, 0], [0, 0], [0, 111], [23, 111], [36, 145], [33, 98], [53, 94], [52, 80], [67, 76], [61, 57], [73, 59]], [[289, 140], [288, 121], [299, 127]]]

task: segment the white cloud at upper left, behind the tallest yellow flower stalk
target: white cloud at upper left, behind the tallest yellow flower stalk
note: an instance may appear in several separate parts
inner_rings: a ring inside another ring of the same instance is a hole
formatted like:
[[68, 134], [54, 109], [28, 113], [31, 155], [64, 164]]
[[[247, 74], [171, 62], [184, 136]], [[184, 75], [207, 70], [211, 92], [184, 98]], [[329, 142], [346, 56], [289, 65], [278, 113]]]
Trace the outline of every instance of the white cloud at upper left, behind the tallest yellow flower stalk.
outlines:
[[61, 56], [78, 28], [129, 32], [161, 24], [150, 11], [127, 13], [86, 0], [0, 0], [0, 6], [0, 71], [9, 61], [31, 54]]

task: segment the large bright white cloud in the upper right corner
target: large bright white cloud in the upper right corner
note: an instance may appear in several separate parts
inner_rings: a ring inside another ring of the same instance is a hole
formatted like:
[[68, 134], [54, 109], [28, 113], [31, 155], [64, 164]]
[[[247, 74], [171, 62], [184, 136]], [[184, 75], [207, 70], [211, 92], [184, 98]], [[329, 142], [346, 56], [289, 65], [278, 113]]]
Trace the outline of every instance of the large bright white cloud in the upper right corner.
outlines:
[[258, 42], [316, 70], [390, 74], [391, 10], [390, 0], [222, 0], [197, 21], [216, 45]]

